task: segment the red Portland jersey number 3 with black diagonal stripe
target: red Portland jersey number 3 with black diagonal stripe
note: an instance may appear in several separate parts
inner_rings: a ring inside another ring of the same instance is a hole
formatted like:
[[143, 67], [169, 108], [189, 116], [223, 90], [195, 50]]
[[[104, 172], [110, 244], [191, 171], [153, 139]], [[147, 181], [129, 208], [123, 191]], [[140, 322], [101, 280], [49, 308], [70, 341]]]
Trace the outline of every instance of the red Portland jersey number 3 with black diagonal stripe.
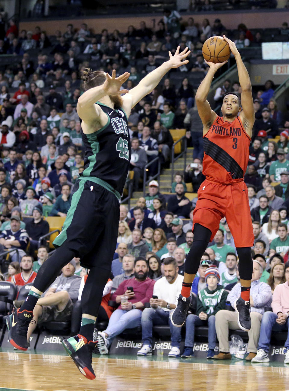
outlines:
[[243, 178], [249, 160], [250, 142], [238, 117], [233, 122], [217, 117], [203, 136], [203, 174], [221, 182]]

